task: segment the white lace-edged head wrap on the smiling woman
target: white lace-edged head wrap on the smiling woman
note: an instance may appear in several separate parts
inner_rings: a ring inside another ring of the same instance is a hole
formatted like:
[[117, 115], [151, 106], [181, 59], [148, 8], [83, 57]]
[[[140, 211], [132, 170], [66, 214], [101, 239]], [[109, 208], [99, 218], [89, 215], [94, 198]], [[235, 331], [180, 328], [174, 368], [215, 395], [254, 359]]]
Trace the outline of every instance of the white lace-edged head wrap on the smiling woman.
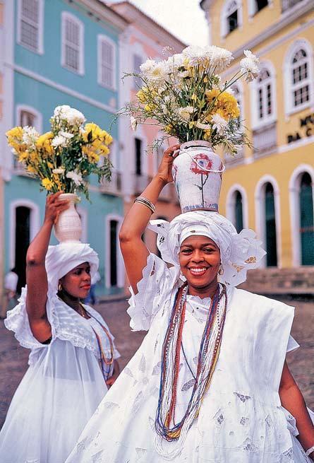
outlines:
[[248, 269], [259, 266], [266, 254], [253, 230], [236, 232], [234, 225], [217, 212], [191, 211], [176, 216], [170, 223], [150, 221], [150, 230], [158, 233], [157, 247], [162, 259], [177, 267], [179, 275], [179, 250], [181, 243], [191, 235], [207, 236], [220, 250], [223, 274], [219, 281], [237, 286], [246, 281]]

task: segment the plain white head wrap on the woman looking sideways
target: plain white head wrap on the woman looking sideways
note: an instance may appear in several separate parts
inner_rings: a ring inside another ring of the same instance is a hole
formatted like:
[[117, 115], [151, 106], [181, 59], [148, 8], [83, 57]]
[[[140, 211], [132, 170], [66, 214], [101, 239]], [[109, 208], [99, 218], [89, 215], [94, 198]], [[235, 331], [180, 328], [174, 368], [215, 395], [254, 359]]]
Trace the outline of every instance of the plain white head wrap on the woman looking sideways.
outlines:
[[64, 242], [56, 246], [49, 246], [46, 255], [49, 289], [56, 292], [59, 279], [83, 262], [90, 264], [90, 276], [95, 276], [99, 259], [97, 252], [90, 245], [83, 242]]

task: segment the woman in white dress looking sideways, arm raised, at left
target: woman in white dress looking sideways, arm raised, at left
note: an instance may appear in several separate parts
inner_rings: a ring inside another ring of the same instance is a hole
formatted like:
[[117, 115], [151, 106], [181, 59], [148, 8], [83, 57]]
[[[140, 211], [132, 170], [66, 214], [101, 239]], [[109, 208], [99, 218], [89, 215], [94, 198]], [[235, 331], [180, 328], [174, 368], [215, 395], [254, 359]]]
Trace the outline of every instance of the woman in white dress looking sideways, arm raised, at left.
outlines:
[[0, 433], [1, 463], [64, 463], [119, 373], [114, 337], [98, 312], [83, 305], [98, 257], [89, 245], [49, 246], [59, 193], [47, 197], [44, 224], [30, 244], [20, 303], [5, 324], [30, 348]]

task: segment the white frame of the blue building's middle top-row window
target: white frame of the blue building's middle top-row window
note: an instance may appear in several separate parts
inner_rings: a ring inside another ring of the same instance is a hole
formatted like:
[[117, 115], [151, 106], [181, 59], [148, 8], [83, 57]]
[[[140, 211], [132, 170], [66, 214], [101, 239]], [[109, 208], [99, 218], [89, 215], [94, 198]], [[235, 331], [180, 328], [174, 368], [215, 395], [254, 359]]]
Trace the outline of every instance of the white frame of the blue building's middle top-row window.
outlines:
[[[71, 20], [73, 23], [76, 23], [79, 28], [79, 40], [80, 44], [78, 45], [78, 70], [68, 66], [66, 64], [66, 20]], [[78, 74], [83, 76], [85, 74], [85, 63], [84, 63], [84, 24], [77, 18], [77, 16], [69, 13], [68, 11], [62, 11], [61, 13], [61, 66], [67, 71], [73, 72], [73, 74]]]

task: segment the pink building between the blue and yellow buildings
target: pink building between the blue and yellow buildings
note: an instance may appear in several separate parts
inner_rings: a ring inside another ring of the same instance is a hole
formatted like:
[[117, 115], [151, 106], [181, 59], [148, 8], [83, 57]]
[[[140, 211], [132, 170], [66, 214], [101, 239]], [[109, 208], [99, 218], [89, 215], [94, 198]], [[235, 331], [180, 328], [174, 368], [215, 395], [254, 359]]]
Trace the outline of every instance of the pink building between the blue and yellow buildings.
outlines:
[[[117, 1], [111, 8], [123, 16], [129, 24], [121, 40], [121, 77], [124, 73], [139, 72], [140, 64], [147, 58], [157, 61], [167, 58], [169, 53], [179, 53], [185, 47], [183, 42], [174, 37], [169, 31], [162, 28], [152, 18], [148, 17], [128, 1]], [[121, 81], [121, 107], [135, 97], [139, 90], [138, 79], [126, 77]], [[143, 125], [136, 131], [131, 131], [130, 122], [121, 118], [121, 160], [123, 167], [123, 194], [124, 210], [130, 209], [137, 197], [157, 172], [159, 160], [164, 148], [152, 153], [150, 145], [159, 135], [157, 127]], [[168, 145], [167, 145], [168, 146]], [[174, 184], [164, 187], [159, 201], [156, 204], [156, 213], [152, 218], [171, 220], [181, 212]], [[155, 234], [145, 233], [145, 242], [151, 250], [156, 250]]]

